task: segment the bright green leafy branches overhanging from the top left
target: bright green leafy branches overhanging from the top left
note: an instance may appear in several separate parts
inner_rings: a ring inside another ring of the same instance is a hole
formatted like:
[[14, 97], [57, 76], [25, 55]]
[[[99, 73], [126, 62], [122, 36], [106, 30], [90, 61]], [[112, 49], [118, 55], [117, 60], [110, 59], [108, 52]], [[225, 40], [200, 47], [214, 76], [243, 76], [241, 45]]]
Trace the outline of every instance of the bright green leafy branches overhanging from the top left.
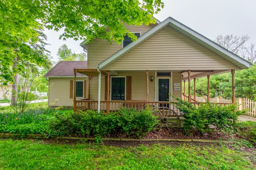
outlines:
[[64, 28], [60, 36], [63, 39], [86, 39], [89, 43], [100, 37], [110, 43], [121, 43], [126, 34], [132, 40], [137, 38], [129, 33], [123, 22], [130, 25], [155, 23], [153, 14], [163, 6], [161, 0], [2, 0], [0, 81], [7, 85], [18, 70], [24, 70], [22, 64], [11, 69], [16, 56], [23, 61], [46, 65], [30, 46], [38, 41], [37, 29], [46, 27], [58, 31]]

